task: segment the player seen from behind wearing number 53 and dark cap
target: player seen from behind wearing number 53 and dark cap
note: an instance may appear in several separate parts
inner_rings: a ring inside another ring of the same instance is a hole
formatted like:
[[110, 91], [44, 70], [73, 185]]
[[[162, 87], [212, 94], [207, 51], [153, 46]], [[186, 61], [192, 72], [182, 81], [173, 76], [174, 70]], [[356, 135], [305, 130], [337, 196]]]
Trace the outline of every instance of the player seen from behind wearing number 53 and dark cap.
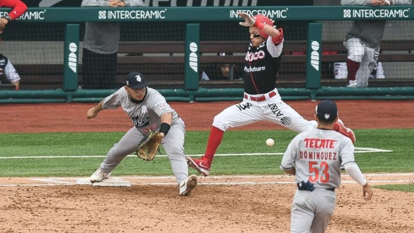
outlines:
[[315, 109], [318, 127], [299, 133], [290, 142], [280, 168], [295, 175], [298, 189], [292, 202], [291, 233], [324, 233], [335, 209], [335, 189], [341, 184], [341, 166], [363, 186], [365, 200], [373, 190], [353, 155], [350, 138], [333, 130], [338, 109], [332, 101], [319, 102]]

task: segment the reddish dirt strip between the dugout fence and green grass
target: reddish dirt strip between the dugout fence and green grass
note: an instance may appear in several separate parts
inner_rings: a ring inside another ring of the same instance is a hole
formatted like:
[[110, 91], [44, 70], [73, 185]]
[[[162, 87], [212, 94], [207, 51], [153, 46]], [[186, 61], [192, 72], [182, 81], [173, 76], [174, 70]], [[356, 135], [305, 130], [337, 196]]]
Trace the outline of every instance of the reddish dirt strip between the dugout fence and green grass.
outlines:
[[[238, 102], [180, 103], [170, 105], [186, 123], [186, 129], [210, 130], [213, 117]], [[317, 102], [287, 102], [306, 119], [313, 119]], [[351, 128], [414, 128], [413, 101], [336, 101], [339, 117]], [[121, 108], [101, 111], [86, 120], [86, 112], [96, 104], [0, 105], [0, 133], [8, 132], [92, 132], [126, 131], [131, 121]], [[230, 130], [285, 129], [258, 122]]]

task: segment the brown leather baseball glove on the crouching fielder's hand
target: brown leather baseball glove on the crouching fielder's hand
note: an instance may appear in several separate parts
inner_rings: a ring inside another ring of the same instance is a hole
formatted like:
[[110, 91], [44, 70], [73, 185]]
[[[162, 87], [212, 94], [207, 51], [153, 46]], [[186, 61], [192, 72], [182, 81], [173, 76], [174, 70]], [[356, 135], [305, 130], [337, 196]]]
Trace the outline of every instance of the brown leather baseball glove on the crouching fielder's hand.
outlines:
[[155, 130], [145, 136], [137, 146], [137, 156], [145, 161], [154, 159], [157, 152], [160, 152], [161, 135]]

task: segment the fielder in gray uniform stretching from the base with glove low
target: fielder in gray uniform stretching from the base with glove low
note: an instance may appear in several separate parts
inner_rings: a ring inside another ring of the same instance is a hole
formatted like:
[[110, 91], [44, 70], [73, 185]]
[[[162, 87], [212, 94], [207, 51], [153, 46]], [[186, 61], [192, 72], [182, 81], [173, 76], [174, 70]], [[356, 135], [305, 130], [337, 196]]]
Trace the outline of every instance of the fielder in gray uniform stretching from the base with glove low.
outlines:
[[166, 99], [155, 89], [147, 87], [144, 75], [131, 72], [126, 77], [125, 86], [104, 98], [90, 108], [87, 119], [95, 118], [103, 109], [121, 106], [131, 118], [133, 127], [107, 153], [104, 162], [91, 176], [91, 182], [100, 182], [111, 175], [111, 171], [137, 149], [138, 143], [152, 130], [159, 130], [172, 171], [179, 184], [179, 193], [187, 196], [197, 185], [197, 176], [188, 176], [188, 166], [184, 155], [186, 129], [184, 121], [172, 109]]

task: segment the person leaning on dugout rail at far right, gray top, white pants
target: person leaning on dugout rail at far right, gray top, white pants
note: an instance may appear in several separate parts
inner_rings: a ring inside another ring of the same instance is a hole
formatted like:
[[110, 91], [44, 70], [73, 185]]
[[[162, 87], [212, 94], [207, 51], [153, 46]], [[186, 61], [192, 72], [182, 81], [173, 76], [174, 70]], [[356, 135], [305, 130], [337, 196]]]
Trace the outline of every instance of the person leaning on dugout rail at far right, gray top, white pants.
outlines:
[[[341, 5], [411, 5], [412, 0], [341, 0]], [[354, 21], [345, 37], [348, 50], [348, 87], [366, 87], [378, 62], [379, 44], [384, 35], [385, 20]]]

